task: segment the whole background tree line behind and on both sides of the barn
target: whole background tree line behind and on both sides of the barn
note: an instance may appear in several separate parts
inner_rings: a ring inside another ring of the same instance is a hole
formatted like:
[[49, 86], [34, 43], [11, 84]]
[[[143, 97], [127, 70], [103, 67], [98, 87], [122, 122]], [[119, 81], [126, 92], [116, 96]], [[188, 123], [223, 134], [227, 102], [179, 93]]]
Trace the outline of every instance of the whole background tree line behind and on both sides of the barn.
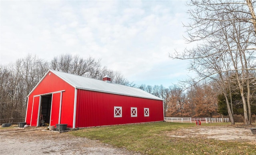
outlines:
[[[105, 75], [113, 83], [137, 87], [163, 99], [165, 117], [220, 117], [228, 115], [228, 109], [218, 82], [191, 82], [186, 90], [177, 85], [136, 85], [128, 81], [120, 72], [102, 66], [100, 60], [80, 58], [70, 54], [60, 55], [50, 62], [28, 55], [8, 65], [0, 65], [0, 119], [24, 118], [26, 114], [27, 95], [42, 79], [49, 69], [67, 72], [88, 78], [102, 80]], [[233, 77], [234, 78], [234, 77]], [[246, 88], [246, 85], [244, 85]], [[250, 84], [250, 103], [252, 114], [256, 114], [256, 81]], [[232, 112], [243, 113], [243, 104], [238, 87], [234, 80], [230, 83], [229, 103]], [[244, 92], [247, 93], [247, 92]], [[232, 101], [230, 101], [232, 100]]]

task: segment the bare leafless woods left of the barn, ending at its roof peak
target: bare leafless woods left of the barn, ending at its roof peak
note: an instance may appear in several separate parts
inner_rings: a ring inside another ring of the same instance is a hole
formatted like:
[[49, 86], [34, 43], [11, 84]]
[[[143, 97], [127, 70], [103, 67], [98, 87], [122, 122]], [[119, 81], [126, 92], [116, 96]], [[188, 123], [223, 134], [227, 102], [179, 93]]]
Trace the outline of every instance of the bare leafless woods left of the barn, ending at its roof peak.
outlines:
[[29, 54], [0, 68], [0, 117], [24, 118], [26, 96], [48, 70], [48, 62]]

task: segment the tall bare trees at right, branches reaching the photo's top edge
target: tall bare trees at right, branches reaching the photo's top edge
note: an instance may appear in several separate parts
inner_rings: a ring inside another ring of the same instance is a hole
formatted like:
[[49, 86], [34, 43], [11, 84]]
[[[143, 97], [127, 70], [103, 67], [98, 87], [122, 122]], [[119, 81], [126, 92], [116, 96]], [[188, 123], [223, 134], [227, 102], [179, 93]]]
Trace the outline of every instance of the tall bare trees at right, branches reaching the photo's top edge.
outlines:
[[[251, 121], [250, 80], [255, 78], [255, 74], [250, 74], [251, 70], [255, 70], [252, 66], [255, 66], [256, 51], [253, 5], [251, 0], [192, 0], [189, 4], [192, 9], [188, 10], [192, 22], [186, 26], [187, 41], [197, 42], [198, 45], [191, 50], [185, 50], [182, 55], [172, 56], [192, 60], [190, 69], [199, 75], [196, 81], [218, 81], [226, 97], [226, 83], [231, 80], [228, 77], [231, 72], [235, 72], [246, 124]], [[244, 85], [247, 85], [247, 96]], [[232, 117], [230, 103], [226, 100], [228, 113]]]

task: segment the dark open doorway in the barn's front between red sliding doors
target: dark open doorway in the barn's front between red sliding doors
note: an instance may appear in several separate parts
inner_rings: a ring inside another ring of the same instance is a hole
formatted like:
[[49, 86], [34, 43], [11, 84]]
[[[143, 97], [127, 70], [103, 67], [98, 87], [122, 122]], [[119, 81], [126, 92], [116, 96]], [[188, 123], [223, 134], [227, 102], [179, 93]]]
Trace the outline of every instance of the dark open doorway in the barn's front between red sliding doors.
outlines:
[[50, 124], [52, 94], [41, 96], [40, 126]]

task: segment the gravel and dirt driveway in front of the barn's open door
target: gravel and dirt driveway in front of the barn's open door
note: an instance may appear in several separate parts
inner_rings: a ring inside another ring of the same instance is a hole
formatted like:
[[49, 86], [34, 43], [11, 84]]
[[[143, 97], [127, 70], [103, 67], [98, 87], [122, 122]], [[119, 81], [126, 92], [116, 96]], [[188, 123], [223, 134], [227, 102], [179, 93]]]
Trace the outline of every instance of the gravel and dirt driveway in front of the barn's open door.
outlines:
[[[45, 128], [45, 127], [44, 127]], [[1, 155], [134, 155], [99, 141], [75, 137], [67, 132], [42, 131], [42, 127], [0, 130]]]

